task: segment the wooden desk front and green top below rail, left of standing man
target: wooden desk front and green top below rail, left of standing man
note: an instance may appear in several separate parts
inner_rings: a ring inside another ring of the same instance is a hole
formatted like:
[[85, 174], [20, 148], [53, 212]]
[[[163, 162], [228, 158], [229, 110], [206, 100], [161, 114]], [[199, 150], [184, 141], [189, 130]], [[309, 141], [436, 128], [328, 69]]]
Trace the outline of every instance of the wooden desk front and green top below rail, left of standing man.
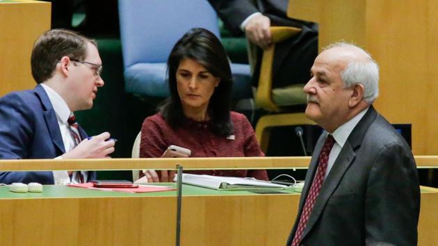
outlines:
[[[1, 245], [175, 245], [175, 193], [44, 186], [38, 195], [3, 187]], [[183, 194], [181, 245], [284, 245], [299, 199], [195, 186]]]

